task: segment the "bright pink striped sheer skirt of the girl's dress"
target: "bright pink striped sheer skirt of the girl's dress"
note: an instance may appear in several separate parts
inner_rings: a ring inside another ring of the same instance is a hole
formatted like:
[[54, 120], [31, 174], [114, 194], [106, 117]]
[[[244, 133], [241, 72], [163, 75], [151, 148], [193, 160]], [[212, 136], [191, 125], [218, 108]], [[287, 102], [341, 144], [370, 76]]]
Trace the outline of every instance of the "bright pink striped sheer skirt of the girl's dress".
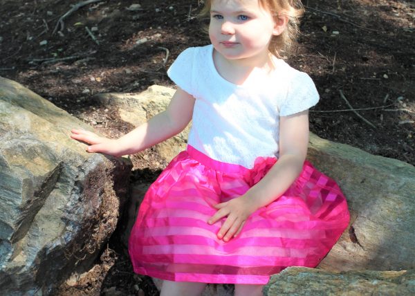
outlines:
[[169, 281], [266, 284], [288, 266], [315, 267], [349, 224], [346, 199], [308, 161], [291, 187], [246, 221], [239, 236], [216, 237], [214, 205], [244, 194], [276, 158], [253, 169], [212, 160], [189, 146], [149, 187], [129, 239], [136, 273]]

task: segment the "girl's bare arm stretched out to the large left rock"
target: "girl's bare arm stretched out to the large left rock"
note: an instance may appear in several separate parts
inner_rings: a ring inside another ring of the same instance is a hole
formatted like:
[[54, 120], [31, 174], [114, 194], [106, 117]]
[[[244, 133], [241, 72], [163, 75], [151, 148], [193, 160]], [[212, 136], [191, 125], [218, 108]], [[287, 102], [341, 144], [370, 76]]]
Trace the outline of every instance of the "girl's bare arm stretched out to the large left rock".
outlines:
[[193, 107], [193, 96], [177, 89], [165, 111], [118, 139], [104, 138], [90, 131], [77, 129], [71, 131], [71, 138], [91, 145], [86, 149], [88, 152], [102, 152], [113, 156], [134, 154], [183, 131], [192, 120]]

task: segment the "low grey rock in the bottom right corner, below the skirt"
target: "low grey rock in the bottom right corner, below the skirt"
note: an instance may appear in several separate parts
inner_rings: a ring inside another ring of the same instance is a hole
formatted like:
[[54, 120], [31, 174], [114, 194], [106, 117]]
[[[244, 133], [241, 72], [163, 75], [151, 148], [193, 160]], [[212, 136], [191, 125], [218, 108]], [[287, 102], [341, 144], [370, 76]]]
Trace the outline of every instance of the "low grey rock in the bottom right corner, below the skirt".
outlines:
[[329, 272], [286, 268], [270, 279], [265, 296], [415, 295], [415, 271]]

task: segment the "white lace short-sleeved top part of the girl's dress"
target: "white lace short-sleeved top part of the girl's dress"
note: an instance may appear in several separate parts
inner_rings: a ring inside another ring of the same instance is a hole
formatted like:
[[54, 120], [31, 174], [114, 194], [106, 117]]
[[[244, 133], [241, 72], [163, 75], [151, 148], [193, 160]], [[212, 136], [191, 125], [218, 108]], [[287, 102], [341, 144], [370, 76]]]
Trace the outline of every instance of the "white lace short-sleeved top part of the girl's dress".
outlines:
[[319, 100], [313, 80], [277, 58], [270, 75], [253, 71], [242, 85], [228, 82], [216, 71], [212, 45], [187, 48], [167, 74], [196, 99], [188, 145], [248, 169], [258, 156], [278, 157], [279, 116]]

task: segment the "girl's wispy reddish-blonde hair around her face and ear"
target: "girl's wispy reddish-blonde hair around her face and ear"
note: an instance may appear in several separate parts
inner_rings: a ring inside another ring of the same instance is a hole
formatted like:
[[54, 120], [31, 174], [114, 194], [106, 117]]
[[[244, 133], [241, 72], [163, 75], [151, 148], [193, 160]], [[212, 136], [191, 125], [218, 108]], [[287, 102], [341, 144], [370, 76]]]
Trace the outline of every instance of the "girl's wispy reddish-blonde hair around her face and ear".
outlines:
[[[291, 53], [293, 45], [297, 40], [299, 34], [299, 18], [304, 13], [304, 7], [300, 0], [258, 0], [259, 4], [270, 10], [275, 22], [280, 17], [287, 17], [288, 23], [281, 35], [273, 36], [268, 46], [270, 53], [276, 57], [282, 57], [282, 52], [285, 55]], [[199, 17], [210, 17], [210, 6], [212, 0], [205, 0]]]

